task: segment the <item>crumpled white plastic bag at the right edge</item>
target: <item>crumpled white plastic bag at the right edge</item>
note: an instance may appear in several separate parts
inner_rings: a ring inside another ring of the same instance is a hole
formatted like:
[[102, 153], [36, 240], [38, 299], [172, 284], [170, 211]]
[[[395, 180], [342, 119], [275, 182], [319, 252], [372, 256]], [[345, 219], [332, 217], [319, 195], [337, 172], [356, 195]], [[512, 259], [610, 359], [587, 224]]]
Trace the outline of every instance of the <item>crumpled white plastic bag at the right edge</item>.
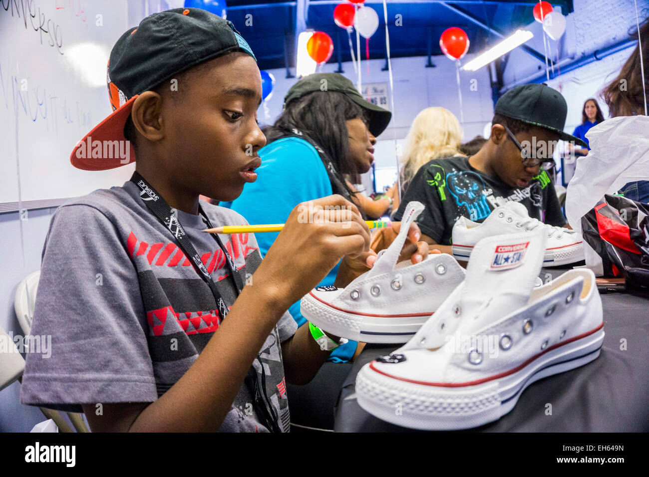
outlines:
[[[577, 159], [566, 193], [566, 215], [574, 230], [582, 233], [582, 217], [604, 194], [616, 193], [627, 182], [649, 180], [649, 117], [607, 119], [587, 133], [591, 151]], [[602, 275], [602, 259], [584, 241], [586, 266]]]

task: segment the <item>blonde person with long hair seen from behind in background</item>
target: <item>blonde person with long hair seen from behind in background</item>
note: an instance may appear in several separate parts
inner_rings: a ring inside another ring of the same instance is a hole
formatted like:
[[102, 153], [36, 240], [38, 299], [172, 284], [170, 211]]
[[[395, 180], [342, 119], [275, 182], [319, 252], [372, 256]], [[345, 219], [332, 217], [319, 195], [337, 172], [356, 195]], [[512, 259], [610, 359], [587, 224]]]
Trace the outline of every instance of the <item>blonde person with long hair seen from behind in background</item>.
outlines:
[[[462, 156], [459, 151], [461, 141], [462, 128], [458, 118], [449, 110], [436, 106], [417, 114], [406, 136], [406, 147], [400, 158], [401, 194], [406, 192], [419, 167], [426, 162]], [[387, 191], [387, 195], [394, 201], [393, 210], [397, 210], [399, 198], [396, 183]]]

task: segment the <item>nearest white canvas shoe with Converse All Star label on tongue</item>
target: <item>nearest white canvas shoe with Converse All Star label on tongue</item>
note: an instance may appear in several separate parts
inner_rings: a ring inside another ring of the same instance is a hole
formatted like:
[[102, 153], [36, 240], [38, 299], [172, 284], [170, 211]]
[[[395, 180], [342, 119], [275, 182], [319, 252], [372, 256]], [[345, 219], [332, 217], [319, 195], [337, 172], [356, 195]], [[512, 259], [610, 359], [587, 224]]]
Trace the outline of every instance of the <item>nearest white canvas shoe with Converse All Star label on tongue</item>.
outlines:
[[535, 287], [542, 230], [483, 239], [464, 282], [403, 347], [356, 376], [361, 408], [399, 426], [472, 428], [496, 421], [533, 382], [593, 361], [604, 340], [589, 269]]

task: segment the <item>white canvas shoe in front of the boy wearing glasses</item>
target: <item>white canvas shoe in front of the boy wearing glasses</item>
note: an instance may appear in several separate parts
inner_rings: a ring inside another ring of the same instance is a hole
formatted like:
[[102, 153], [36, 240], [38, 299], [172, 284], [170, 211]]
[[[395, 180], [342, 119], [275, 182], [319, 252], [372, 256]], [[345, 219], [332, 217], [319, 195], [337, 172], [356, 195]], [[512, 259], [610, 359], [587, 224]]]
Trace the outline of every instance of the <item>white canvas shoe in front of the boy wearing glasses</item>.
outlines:
[[575, 230], [544, 224], [532, 219], [520, 202], [509, 201], [489, 214], [484, 222], [477, 223], [460, 217], [453, 226], [453, 256], [460, 261], [469, 260], [474, 245], [481, 239], [500, 234], [517, 234], [525, 230], [545, 230], [548, 236], [543, 266], [554, 267], [584, 260], [582, 236]]

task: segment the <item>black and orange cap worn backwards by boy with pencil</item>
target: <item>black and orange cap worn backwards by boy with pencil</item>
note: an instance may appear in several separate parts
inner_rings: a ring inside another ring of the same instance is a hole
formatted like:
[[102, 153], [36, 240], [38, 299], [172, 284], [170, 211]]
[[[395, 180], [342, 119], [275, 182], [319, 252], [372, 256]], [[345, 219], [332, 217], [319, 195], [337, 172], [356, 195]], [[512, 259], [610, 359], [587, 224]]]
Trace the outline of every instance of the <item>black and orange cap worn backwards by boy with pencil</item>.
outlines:
[[[113, 157], [110, 147], [93, 147], [90, 154], [91, 145], [95, 141], [126, 141], [124, 127], [140, 93], [202, 62], [235, 51], [248, 53], [256, 61], [251, 47], [231, 21], [201, 8], [175, 8], [143, 19], [138, 27], [125, 32], [110, 52], [106, 81], [113, 112], [77, 143], [70, 155], [72, 165], [86, 171], [103, 171], [133, 162], [135, 151], [130, 144], [129, 162]], [[110, 154], [104, 156], [104, 152]]]

